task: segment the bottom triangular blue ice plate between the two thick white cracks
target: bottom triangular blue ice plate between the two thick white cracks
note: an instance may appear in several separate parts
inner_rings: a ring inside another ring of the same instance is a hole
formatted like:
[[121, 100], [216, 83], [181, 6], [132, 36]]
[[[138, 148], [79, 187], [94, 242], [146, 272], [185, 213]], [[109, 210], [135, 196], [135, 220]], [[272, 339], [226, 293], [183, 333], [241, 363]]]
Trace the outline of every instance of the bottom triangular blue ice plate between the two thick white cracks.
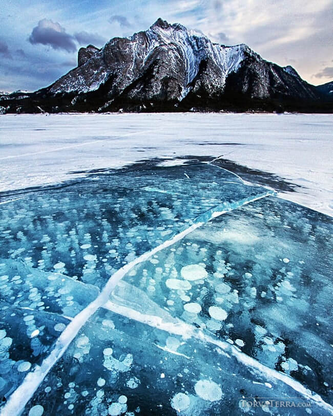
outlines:
[[[101, 379], [105, 380], [102, 386]], [[192, 416], [218, 415], [226, 408], [228, 414], [246, 414], [244, 397], [268, 398], [272, 390], [281, 400], [303, 401], [300, 393], [253, 373], [216, 345], [189, 342], [100, 310], [82, 327], [23, 414], [36, 405], [43, 406], [45, 414]], [[279, 414], [280, 409], [269, 411]], [[316, 403], [311, 403], [311, 411], [329, 414]], [[304, 408], [289, 414], [304, 414]]]

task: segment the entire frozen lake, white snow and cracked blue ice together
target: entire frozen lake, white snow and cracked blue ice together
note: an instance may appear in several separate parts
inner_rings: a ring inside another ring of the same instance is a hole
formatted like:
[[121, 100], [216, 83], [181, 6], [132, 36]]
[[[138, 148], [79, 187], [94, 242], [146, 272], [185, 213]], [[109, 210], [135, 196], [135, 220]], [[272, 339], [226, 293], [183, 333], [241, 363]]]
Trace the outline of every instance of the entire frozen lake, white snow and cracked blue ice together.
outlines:
[[1, 416], [333, 414], [329, 116], [0, 123]]

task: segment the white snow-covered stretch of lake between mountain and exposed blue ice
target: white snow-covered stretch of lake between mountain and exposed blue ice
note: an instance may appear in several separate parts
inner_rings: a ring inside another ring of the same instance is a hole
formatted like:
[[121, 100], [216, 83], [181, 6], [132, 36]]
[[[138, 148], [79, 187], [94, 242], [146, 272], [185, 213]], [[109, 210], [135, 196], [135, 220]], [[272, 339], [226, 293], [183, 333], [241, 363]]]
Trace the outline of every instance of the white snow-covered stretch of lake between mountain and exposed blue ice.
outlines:
[[[275, 114], [7, 115], [0, 117], [0, 191], [56, 184], [140, 160], [223, 155], [246, 179], [332, 215], [333, 118]], [[266, 175], [266, 173], [275, 174]]]

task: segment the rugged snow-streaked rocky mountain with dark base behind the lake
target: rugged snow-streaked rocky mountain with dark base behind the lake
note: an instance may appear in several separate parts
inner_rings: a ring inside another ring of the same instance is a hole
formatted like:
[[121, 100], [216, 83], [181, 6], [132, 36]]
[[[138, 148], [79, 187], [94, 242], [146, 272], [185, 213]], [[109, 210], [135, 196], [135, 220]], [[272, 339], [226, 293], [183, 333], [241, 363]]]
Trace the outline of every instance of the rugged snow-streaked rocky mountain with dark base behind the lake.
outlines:
[[332, 105], [294, 68], [162, 19], [102, 49], [81, 48], [77, 68], [45, 89], [0, 97], [2, 113], [121, 109], [331, 112]]

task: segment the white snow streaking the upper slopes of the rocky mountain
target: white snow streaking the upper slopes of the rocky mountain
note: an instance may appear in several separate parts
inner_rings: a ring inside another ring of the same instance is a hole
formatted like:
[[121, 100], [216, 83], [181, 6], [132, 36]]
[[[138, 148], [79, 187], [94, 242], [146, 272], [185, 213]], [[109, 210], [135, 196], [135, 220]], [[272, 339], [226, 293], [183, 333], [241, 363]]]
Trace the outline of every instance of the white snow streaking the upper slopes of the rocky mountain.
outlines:
[[[119, 68], [126, 70], [130, 82], [140, 75], [158, 49], [164, 48], [170, 55], [180, 55], [186, 76], [179, 99], [184, 98], [186, 92], [189, 91], [189, 85], [198, 74], [202, 60], [210, 59], [221, 69], [224, 73], [223, 83], [230, 72], [237, 71], [245, 58], [244, 52], [256, 55], [246, 45], [231, 47], [219, 45], [211, 42], [204, 35], [189, 31], [182, 25], [169, 25], [161, 19], [158, 19], [146, 32], [135, 33], [125, 39], [123, 59], [117, 62], [119, 64], [117, 70]], [[114, 73], [115, 69], [112, 65], [106, 64], [105, 57], [110, 54], [110, 47], [113, 47], [119, 40], [119, 38], [111, 39], [102, 50], [95, 48], [94, 51], [91, 45], [81, 48], [81, 53], [84, 53], [86, 49], [88, 53], [91, 53], [91, 57], [85, 62], [80, 62], [78, 68], [56, 81], [51, 86], [50, 92], [87, 93], [97, 90]]]

